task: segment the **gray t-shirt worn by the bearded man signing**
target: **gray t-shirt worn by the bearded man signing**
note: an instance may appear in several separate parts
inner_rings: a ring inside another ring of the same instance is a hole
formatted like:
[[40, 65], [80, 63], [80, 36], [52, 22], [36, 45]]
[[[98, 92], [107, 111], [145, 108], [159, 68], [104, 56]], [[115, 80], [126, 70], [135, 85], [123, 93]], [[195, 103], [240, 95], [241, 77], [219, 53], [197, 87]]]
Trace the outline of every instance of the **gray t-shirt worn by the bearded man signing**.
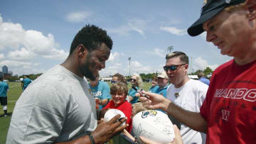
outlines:
[[95, 101], [86, 79], [57, 65], [21, 94], [6, 143], [57, 143], [97, 127]]

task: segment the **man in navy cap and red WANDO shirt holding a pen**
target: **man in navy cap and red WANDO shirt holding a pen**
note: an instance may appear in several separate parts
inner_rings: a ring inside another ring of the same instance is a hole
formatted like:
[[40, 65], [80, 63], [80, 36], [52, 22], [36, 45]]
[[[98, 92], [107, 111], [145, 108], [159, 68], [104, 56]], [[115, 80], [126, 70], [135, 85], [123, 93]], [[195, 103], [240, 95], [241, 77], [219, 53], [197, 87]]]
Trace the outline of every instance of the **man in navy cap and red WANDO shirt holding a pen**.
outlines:
[[255, 143], [256, 1], [206, 0], [188, 34], [203, 31], [222, 55], [234, 58], [213, 72], [200, 112], [186, 111], [147, 92], [150, 101], [141, 100], [147, 108], [163, 109], [186, 126], [206, 133], [206, 143]]

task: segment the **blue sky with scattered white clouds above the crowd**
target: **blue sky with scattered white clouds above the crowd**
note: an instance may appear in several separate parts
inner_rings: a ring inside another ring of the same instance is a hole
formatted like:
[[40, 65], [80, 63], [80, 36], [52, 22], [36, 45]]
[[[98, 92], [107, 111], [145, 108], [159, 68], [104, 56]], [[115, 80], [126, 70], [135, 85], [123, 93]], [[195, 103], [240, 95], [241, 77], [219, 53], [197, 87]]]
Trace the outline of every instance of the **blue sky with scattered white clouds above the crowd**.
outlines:
[[213, 70], [232, 57], [206, 42], [206, 33], [186, 30], [199, 18], [203, 0], [26, 0], [0, 1], [0, 67], [14, 74], [37, 74], [60, 64], [86, 24], [107, 30], [114, 45], [101, 76], [117, 72], [163, 71], [167, 48], [190, 57], [189, 72]]

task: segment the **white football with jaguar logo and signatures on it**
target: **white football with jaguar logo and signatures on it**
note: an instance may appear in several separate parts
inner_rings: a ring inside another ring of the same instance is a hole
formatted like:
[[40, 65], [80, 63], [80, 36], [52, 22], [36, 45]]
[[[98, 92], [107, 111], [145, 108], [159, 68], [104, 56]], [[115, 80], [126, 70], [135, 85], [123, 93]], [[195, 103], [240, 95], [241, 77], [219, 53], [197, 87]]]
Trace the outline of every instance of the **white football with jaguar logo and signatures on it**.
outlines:
[[138, 139], [143, 136], [159, 143], [170, 143], [175, 138], [174, 126], [167, 114], [156, 110], [137, 113], [132, 118], [132, 131]]

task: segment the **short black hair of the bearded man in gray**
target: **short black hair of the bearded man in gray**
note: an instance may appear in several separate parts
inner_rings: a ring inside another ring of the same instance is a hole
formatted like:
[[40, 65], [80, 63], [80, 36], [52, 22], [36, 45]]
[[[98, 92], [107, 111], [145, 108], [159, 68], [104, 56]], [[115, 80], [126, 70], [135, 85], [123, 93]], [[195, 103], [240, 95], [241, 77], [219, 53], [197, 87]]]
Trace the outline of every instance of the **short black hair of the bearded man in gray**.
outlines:
[[100, 48], [102, 43], [105, 43], [110, 50], [112, 49], [113, 42], [110, 36], [107, 35], [107, 31], [94, 25], [86, 25], [75, 35], [69, 55], [73, 53], [78, 45], [84, 45], [91, 52]]

